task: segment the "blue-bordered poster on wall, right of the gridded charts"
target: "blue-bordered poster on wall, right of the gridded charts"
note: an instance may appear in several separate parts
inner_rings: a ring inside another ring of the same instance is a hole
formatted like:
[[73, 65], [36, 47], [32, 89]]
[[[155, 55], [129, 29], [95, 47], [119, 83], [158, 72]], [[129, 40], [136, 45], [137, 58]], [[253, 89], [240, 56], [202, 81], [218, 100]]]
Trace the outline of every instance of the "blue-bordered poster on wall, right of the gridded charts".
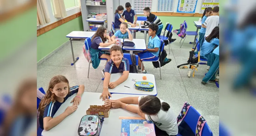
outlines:
[[179, 0], [177, 13], [195, 13], [197, 0]]

